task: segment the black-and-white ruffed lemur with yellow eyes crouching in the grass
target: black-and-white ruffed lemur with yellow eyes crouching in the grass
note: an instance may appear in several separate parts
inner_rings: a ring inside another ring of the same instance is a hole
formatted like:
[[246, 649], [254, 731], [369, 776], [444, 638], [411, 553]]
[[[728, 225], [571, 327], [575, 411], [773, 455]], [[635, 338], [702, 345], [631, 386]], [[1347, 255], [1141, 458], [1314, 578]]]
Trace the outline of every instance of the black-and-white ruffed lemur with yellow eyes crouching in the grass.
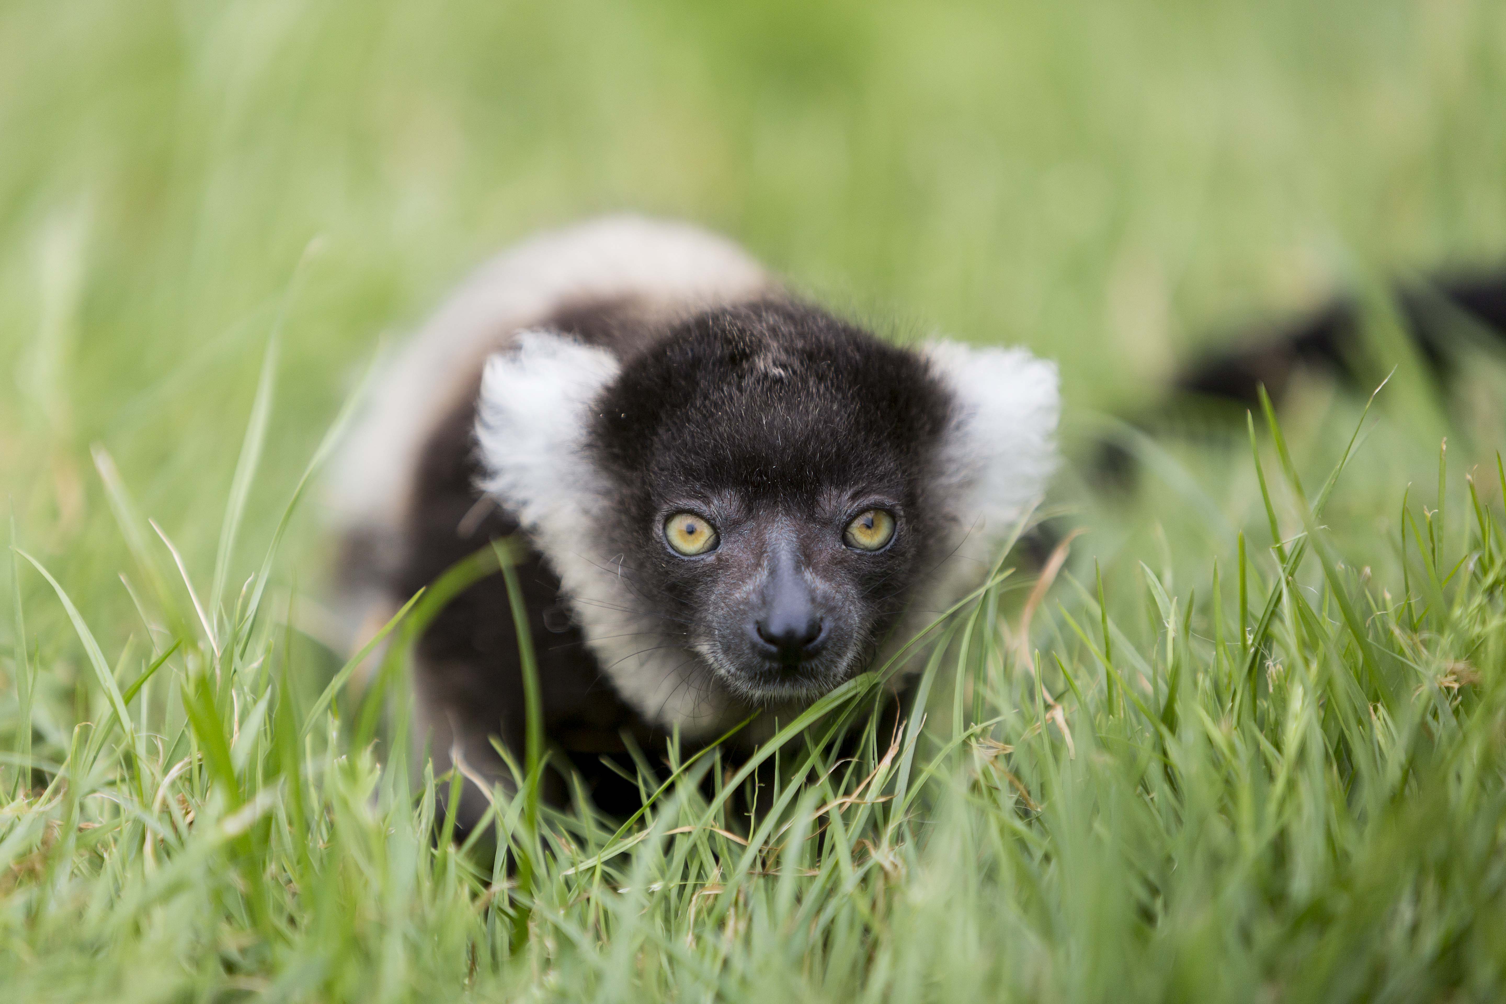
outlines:
[[[1274, 382], [1339, 321], [1185, 390]], [[637, 789], [602, 757], [762, 709], [745, 751], [973, 590], [1051, 477], [1059, 408], [1056, 366], [1024, 349], [899, 346], [720, 236], [596, 220], [485, 263], [387, 364], [328, 482], [339, 607], [369, 631], [524, 540], [547, 741], [626, 811]], [[444, 607], [411, 665], [435, 771], [459, 754], [506, 784], [492, 741], [521, 750], [526, 718], [501, 577]], [[485, 804], [468, 783], [462, 828]]]

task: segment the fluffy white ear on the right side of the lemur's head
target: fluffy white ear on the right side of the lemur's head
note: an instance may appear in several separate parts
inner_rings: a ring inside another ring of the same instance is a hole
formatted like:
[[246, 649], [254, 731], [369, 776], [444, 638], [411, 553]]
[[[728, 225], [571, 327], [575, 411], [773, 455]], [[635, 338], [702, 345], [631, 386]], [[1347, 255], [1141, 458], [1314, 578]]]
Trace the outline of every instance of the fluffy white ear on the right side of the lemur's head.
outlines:
[[1056, 363], [1026, 349], [932, 342], [923, 355], [952, 391], [943, 479], [953, 513], [985, 540], [1008, 533], [1056, 470]]

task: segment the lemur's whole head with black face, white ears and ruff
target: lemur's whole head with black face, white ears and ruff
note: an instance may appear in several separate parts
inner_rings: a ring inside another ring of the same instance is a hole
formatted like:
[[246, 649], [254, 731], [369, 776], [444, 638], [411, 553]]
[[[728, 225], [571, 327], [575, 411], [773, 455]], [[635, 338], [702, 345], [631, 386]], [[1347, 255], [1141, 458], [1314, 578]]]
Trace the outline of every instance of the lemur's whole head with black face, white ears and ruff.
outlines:
[[527, 333], [488, 364], [479, 441], [605, 671], [667, 723], [652, 701], [684, 698], [645, 674], [812, 698], [940, 613], [1041, 491], [1054, 424], [1054, 367], [1024, 352], [914, 352], [770, 301], [623, 363]]

